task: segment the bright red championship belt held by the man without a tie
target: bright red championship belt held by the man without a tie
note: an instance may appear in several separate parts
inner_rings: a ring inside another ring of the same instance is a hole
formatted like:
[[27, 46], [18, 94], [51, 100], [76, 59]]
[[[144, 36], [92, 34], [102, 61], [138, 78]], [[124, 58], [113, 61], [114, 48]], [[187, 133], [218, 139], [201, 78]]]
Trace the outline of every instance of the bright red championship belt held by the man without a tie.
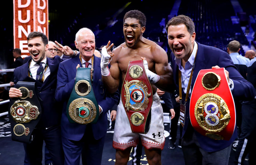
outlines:
[[236, 122], [235, 104], [224, 68], [198, 73], [189, 109], [197, 132], [215, 140], [230, 140]]

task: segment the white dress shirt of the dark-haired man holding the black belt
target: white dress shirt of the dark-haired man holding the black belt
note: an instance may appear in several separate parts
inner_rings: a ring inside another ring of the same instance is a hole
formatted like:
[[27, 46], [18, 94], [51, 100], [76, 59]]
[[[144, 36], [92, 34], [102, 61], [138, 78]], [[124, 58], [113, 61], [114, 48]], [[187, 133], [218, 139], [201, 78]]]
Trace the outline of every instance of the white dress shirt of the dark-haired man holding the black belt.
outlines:
[[[46, 58], [41, 61], [43, 68], [45, 68], [46, 61], [47, 61]], [[33, 59], [31, 59], [31, 63], [30, 63], [29, 69], [30, 69], [30, 72], [31, 72], [31, 74], [33, 76], [33, 79], [37, 78], [37, 69], [38, 68], [39, 68], [39, 64], [35, 63], [33, 61]], [[43, 70], [43, 75], [44, 75], [43, 82], [45, 82], [46, 78], [50, 75], [50, 68], [49, 68], [49, 66], [47, 67], [46, 71]]]

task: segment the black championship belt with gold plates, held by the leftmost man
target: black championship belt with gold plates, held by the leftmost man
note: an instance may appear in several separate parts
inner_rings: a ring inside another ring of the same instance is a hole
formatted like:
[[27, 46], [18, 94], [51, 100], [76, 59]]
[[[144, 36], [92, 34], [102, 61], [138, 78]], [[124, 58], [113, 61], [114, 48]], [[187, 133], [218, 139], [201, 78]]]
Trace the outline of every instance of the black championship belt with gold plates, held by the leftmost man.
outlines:
[[11, 139], [13, 141], [31, 143], [33, 130], [41, 118], [40, 97], [35, 82], [17, 82], [15, 88], [21, 90], [21, 97], [14, 97], [9, 105], [11, 123]]

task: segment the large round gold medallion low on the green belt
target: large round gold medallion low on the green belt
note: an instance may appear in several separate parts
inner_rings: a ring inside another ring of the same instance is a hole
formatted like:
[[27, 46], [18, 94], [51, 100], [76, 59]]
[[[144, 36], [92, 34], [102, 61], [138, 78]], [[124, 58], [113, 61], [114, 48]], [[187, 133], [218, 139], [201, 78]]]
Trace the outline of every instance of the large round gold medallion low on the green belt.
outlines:
[[69, 115], [72, 120], [79, 124], [91, 123], [96, 117], [96, 107], [87, 98], [78, 98], [71, 102]]

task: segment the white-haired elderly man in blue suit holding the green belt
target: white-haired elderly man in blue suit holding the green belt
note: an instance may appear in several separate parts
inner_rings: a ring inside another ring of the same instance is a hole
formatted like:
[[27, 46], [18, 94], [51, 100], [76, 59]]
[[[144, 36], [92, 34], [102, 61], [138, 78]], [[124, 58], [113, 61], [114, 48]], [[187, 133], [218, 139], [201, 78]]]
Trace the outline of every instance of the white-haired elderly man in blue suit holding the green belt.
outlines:
[[[106, 112], [117, 102], [119, 94], [116, 92], [110, 95], [103, 86], [100, 68], [101, 59], [94, 55], [95, 37], [93, 32], [88, 28], [80, 29], [75, 36], [75, 46], [80, 51], [76, 57], [67, 59], [59, 65], [55, 92], [56, 100], [63, 102], [61, 134], [65, 164], [79, 164], [81, 151], [84, 148], [87, 164], [96, 165], [101, 164], [107, 132]], [[68, 50], [62, 49], [62, 52], [69, 54]], [[70, 53], [73, 52], [70, 51]], [[75, 84], [78, 67], [93, 68], [93, 91], [100, 112], [96, 124], [70, 123], [66, 115], [67, 102]]]

